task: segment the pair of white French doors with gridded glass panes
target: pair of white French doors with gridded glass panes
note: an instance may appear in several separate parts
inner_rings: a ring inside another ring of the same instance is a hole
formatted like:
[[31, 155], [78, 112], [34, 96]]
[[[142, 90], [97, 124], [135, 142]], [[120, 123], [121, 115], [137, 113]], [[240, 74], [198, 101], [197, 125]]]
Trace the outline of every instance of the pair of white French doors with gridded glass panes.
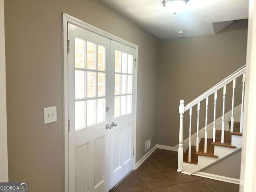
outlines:
[[133, 166], [135, 50], [72, 24], [68, 40], [68, 190], [108, 192]]

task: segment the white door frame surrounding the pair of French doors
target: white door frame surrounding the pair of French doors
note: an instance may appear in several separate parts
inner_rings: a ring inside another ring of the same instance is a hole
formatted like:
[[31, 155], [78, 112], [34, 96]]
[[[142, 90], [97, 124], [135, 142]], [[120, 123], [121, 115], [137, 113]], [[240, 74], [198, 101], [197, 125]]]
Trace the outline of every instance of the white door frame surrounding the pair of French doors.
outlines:
[[[62, 50], [63, 50], [63, 96], [64, 96], [64, 112], [63, 112], [63, 125], [64, 125], [64, 192], [68, 192], [68, 23], [76, 25], [80, 28], [94, 32], [116, 42], [122, 43], [124, 45], [135, 48], [136, 50], [136, 59], [138, 59], [138, 45], [123, 40], [117, 36], [114, 36], [104, 30], [96, 28], [88, 23], [85, 23], [73, 16], [70, 16], [66, 13], [62, 14]], [[133, 147], [134, 147], [134, 156], [133, 156], [133, 169], [135, 169], [136, 161], [136, 116], [137, 116], [137, 77], [138, 74], [138, 61], [135, 68], [135, 99], [134, 99], [134, 138], [133, 138]]]

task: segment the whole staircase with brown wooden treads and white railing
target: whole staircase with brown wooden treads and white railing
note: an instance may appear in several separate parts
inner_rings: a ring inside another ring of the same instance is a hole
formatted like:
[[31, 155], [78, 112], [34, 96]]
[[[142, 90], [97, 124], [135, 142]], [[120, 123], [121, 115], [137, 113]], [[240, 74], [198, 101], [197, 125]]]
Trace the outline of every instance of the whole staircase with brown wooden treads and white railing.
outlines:
[[[245, 86], [245, 72], [246, 66], [238, 69], [236, 72], [210, 88], [204, 94], [184, 105], [184, 100], [180, 100], [180, 134], [179, 134], [179, 147], [178, 147], [178, 172], [184, 174], [196, 174], [200, 170], [222, 160], [223, 158], [233, 154], [234, 152], [242, 148], [242, 130], [243, 130], [243, 118], [244, 118], [244, 86]], [[234, 97], [236, 90], [236, 79], [242, 76], [242, 100], [241, 108], [234, 107]], [[232, 82], [232, 109], [230, 111], [231, 116], [225, 113], [225, 99], [226, 99], [226, 86]], [[216, 120], [216, 103], [217, 103], [217, 91], [223, 89], [222, 100], [222, 116]], [[208, 124], [208, 103], [209, 96], [214, 94], [214, 117], [213, 122]], [[205, 127], [201, 130], [199, 128], [199, 115], [200, 115], [200, 102], [205, 100]], [[192, 108], [197, 107], [197, 130], [192, 136]], [[184, 128], [184, 112], [189, 110], [189, 127]], [[236, 114], [236, 120], [234, 121], [234, 114]], [[239, 117], [237, 117], [237, 114]], [[221, 122], [220, 122], [221, 121]], [[217, 127], [217, 124], [221, 126]], [[212, 125], [213, 124], [213, 125]], [[228, 124], [228, 128], [227, 128]], [[225, 129], [226, 125], [226, 129]], [[211, 133], [208, 132], [208, 126], [212, 126]], [[200, 131], [201, 130], [201, 131]], [[184, 131], [189, 133], [188, 144], [184, 142]], [[202, 134], [204, 131], [204, 134]], [[202, 136], [204, 135], [204, 137]], [[194, 139], [196, 137], [196, 140]], [[192, 145], [194, 142], [194, 145]], [[186, 152], [184, 153], [184, 147]]]

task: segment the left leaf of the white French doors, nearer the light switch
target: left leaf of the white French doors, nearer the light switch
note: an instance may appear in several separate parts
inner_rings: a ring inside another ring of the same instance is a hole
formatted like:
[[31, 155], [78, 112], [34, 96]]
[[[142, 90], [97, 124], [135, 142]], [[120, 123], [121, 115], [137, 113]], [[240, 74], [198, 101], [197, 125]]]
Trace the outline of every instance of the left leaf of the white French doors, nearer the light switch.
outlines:
[[69, 191], [109, 189], [110, 40], [68, 24]]

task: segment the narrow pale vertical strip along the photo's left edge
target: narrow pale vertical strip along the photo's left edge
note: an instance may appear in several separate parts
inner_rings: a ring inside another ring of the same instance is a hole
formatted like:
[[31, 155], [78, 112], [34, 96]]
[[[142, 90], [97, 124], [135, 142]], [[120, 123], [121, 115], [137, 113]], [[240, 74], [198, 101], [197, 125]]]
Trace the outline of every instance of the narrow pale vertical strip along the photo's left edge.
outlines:
[[4, 0], [0, 0], [0, 182], [8, 182]]

